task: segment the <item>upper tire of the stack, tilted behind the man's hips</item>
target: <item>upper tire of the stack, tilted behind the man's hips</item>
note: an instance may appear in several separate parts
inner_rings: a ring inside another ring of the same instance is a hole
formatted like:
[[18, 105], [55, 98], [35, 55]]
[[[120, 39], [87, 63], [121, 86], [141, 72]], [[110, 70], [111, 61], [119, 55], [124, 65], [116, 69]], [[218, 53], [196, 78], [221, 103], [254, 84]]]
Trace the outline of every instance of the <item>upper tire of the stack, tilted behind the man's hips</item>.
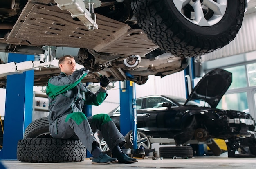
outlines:
[[36, 119], [30, 123], [24, 132], [24, 138], [51, 138], [48, 117]]

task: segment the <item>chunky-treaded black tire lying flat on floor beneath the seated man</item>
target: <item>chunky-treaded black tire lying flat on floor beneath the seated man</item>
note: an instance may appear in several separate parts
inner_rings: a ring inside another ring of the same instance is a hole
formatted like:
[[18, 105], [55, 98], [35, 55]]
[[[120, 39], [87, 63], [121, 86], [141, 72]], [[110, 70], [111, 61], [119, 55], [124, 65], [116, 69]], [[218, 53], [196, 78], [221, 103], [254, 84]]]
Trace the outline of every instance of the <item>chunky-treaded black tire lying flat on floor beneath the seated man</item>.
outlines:
[[17, 159], [21, 162], [81, 162], [86, 149], [80, 140], [26, 138], [18, 141]]

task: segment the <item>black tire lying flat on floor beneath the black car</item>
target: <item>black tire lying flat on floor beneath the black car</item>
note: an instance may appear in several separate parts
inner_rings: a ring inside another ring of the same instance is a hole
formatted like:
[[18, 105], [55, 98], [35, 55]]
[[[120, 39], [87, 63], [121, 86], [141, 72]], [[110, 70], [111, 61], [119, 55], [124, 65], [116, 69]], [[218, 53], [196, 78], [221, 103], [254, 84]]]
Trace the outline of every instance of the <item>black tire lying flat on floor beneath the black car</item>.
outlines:
[[159, 155], [163, 158], [192, 158], [193, 148], [190, 146], [171, 146], [171, 147], [160, 147]]

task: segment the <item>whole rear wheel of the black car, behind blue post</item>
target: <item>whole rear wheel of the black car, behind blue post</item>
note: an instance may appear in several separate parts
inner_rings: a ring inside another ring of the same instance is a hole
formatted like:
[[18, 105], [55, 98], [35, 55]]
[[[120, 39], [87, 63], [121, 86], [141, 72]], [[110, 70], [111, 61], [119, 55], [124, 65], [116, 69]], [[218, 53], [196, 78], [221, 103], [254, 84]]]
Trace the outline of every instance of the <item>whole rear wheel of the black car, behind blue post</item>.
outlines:
[[[124, 147], [126, 149], [133, 149], [133, 132], [132, 132], [132, 130], [124, 136], [124, 139], [126, 140], [126, 145], [124, 145]], [[150, 140], [148, 139], [147, 135], [140, 131], [137, 131], [137, 148], [138, 149], [142, 149], [142, 148], [150, 149], [151, 148], [151, 143], [150, 143]]]

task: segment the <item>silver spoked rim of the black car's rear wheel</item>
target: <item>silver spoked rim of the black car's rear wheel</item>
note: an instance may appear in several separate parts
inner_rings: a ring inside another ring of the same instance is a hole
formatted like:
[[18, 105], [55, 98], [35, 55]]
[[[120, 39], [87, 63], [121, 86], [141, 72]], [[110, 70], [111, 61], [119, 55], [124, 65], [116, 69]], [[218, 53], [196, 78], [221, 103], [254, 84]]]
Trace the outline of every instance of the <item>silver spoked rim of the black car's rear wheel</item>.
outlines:
[[[133, 132], [130, 133], [129, 138], [130, 138], [130, 142], [133, 145]], [[151, 147], [148, 137], [141, 132], [137, 132], [137, 146], [138, 146], [138, 149], [142, 149], [142, 148], [150, 149]]]

